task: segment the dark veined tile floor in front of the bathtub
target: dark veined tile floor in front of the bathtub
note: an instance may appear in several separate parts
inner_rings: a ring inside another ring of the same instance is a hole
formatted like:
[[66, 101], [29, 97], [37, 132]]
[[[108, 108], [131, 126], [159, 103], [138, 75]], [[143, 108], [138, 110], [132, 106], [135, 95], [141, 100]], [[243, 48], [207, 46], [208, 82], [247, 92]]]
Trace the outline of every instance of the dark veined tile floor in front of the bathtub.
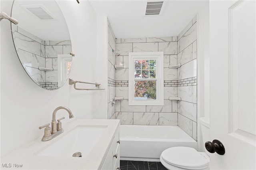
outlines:
[[121, 170], [167, 170], [161, 162], [120, 160]]

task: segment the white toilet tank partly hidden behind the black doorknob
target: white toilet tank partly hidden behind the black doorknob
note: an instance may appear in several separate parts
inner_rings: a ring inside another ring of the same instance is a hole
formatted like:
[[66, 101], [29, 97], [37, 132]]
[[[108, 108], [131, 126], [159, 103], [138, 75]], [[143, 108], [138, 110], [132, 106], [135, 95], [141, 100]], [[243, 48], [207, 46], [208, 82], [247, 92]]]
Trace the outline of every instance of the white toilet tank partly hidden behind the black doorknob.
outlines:
[[[203, 137], [203, 143], [210, 141], [210, 117], [201, 117], [200, 118], [201, 123], [201, 130], [202, 130], [202, 137]], [[209, 155], [209, 152], [204, 147], [205, 152]]]

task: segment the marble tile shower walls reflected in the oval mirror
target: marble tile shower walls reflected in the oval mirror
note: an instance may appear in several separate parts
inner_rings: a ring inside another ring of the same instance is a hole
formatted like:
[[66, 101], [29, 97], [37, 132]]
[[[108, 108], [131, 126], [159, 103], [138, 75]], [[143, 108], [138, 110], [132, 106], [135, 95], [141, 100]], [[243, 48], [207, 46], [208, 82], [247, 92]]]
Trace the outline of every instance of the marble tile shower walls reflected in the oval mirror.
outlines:
[[[20, 61], [30, 73], [30, 77], [47, 89], [58, 87], [57, 57], [58, 54], [68, 54], [72, 51], [71, 42], [45, 41], [18, 26], [15, 26], [12, 33]], [[49, 67], [54, 70], [41, 71], [38, 67]]]

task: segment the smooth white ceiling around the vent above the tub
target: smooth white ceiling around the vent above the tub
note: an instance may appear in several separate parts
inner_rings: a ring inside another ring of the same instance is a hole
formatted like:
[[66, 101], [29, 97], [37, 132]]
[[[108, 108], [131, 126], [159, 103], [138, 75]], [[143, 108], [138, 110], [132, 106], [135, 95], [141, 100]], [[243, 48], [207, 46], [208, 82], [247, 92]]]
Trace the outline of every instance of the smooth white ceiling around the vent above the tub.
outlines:
[[147, 1], [90, 0], [98, 16], [108, 16], [116, 38], [178, 36], [208, 0], [164, 0], [158, 16], [145, 16]]

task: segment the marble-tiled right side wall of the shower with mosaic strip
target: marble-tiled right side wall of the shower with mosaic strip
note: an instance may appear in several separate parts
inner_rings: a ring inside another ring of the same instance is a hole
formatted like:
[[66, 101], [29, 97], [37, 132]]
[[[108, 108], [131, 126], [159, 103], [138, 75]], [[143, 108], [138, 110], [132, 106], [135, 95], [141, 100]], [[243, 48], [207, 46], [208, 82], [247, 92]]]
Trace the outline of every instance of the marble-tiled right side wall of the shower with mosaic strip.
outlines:
[[197, 140], [196, 16], [178, 36], [177, 95], [178, 126]]

